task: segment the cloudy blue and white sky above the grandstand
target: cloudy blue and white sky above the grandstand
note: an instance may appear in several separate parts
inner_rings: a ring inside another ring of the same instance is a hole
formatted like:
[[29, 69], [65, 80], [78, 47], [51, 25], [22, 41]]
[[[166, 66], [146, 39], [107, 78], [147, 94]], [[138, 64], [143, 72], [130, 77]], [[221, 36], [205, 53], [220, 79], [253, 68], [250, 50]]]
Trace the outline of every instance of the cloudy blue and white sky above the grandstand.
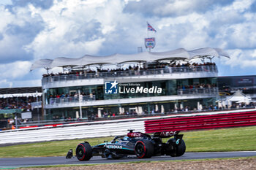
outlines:
[[[34, 61], [219, 47], [219, 76], [256, 74], [256, 0], [1, 0], [0, 88], [41, 86]], [[146, 31], [146, 22], [157, 33]]]

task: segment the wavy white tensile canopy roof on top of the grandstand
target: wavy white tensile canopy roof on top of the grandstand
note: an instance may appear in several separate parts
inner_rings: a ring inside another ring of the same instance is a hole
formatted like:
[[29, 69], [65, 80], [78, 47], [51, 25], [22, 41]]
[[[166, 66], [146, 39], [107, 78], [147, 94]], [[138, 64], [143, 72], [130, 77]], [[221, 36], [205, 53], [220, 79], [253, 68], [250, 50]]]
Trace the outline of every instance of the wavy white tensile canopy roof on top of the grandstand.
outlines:
[[178, 48], [176, 50], [170, 50], [166, 52], [143, 52], [136, 54], [114, 54], [107, 56], [97, 55], [84, 55], [81, 58], [55, 58], [41, 59], [35, 61], [31, 70], [45, 68], [52, 69], [54, 67], [67, 67], [67, 66], [89, 66], [89, 65], [103, 65], [110, 63], [128, 63], [128, 62], [147, 62], [147, 61], [175, 61], [175, 60], [190, 60], [192, 58], [199, 57], [219, 57], [224, 56], [230, 58], [224, 50], [219, 48], [204, 47], [196, 50], [185, 50], [184, 48]]

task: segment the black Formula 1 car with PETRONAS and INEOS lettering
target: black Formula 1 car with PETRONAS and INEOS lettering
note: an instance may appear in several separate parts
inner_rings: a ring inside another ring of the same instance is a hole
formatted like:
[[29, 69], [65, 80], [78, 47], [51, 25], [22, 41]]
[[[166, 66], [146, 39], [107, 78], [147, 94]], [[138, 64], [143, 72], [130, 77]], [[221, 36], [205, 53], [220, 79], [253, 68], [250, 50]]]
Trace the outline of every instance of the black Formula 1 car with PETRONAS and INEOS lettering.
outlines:
[[[138, 158], [151, 158], [157, 155], [181, 156], [186, 150], [182, 139], [183, 134], [179, 131], [162, 131], [153, 135], [133, 132], [128, 130], [127, 136], [115, 136], [111, 142], [91, 147], [89, 142], [78, 144], [75, 150], [79, 161], [89, 161], [92, 156], [100, 155], [102, 158], [118, 159], [129, 155], [136, 155]], [[166, 143], [162, 138], [169, 139]]]

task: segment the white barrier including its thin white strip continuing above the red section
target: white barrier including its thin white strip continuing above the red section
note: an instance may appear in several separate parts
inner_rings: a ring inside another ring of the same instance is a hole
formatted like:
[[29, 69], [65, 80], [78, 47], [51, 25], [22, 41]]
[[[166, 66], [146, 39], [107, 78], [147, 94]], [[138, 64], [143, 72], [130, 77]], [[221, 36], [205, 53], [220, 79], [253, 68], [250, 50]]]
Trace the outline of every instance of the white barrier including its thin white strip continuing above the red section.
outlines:
[[170, 117], [190, 117], [197, 115], [217, 115], [234, 112], [249, 112], [256, 109], [238, 109], [218, 112], [199, 112], [184, 115], [167, 115], [158, 117], [141, 117], [124, 120], [103, 120], [91, 123], [72, 123], [53, 127], [25, 128], [19, 130], [0, 131], [1, 144], [21, 142], [43, 142], [66, 139], [85, 139], [93, 137], [116, 136], [127, 134], [127, 129], [145, 132], [145, 120], [157, 120]]

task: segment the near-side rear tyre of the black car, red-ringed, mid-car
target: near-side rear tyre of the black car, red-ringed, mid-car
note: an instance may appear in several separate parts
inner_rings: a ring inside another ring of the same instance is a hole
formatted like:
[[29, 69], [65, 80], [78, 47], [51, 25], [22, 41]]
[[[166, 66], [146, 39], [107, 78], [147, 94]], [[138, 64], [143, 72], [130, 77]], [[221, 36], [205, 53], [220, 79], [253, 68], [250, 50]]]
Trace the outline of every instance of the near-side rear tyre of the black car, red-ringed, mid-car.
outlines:
[[154, 145], [148, 140], [138, 141], [135, 144], [135, 155], [138, 158], [151, 158], [154, 154]]

